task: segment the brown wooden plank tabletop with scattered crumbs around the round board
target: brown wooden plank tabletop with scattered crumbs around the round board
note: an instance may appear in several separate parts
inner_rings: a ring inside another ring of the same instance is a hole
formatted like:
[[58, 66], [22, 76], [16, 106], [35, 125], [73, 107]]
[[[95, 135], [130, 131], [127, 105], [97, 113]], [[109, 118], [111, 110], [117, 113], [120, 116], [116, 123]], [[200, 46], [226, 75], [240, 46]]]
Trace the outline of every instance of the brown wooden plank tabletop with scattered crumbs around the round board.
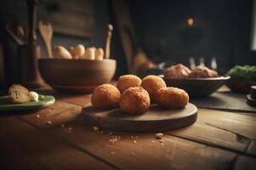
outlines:
[[1, 169], [256, 169], [256, 114], [199, 109], [194, 124], [160, 142], [156, 133], [94, 131], [81, 115], [90, 95], [42, 93], [56, 103], [1, 114]]

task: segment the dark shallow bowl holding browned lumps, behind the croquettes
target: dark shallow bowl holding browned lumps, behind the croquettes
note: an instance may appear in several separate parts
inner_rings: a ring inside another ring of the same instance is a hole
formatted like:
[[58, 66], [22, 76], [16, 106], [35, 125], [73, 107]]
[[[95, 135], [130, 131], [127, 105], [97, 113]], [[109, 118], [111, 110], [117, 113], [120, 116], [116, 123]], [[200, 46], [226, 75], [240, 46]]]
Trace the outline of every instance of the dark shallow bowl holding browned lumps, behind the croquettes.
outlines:
[[[162, 76], [163, 77], [163, 76]], [[182, 88], [191, 97], [207, 97], [223, 86], [230, 77], [214, 78], [166, 78], [163, 80], [169, 87]]]

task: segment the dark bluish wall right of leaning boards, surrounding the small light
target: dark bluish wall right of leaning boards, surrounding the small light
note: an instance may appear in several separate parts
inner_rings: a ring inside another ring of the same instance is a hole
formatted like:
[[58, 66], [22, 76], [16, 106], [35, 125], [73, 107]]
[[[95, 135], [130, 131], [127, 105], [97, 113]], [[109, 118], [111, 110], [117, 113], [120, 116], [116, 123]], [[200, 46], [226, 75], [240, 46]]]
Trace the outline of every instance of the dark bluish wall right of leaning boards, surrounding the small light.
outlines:
[[[252, 0], [129, 1], [141, 46], [156, 62], [216, 56], [219, 68], [256, 64], [250, 51]], [[195, 24], [187, 26], [193, 17]]]

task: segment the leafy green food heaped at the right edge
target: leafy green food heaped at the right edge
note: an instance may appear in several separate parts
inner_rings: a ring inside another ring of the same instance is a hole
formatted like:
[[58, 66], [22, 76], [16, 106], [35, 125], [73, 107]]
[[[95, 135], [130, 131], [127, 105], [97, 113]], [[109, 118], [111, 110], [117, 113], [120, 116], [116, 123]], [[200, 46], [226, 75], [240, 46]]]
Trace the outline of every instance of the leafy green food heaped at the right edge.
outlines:
[[233, 80], [256, 81], [256, 65], [236, 65], [227, 73]]

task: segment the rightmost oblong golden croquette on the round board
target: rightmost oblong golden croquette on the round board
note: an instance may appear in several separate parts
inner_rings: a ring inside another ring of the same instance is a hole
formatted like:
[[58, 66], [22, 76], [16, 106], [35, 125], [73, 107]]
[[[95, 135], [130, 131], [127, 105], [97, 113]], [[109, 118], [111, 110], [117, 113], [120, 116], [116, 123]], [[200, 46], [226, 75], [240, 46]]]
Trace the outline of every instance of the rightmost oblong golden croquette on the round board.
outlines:
[[179, 109], [189, 102], [189, 95], [180, 88], [160, 88], [156, 93], [156, 104], [167, 109]]

